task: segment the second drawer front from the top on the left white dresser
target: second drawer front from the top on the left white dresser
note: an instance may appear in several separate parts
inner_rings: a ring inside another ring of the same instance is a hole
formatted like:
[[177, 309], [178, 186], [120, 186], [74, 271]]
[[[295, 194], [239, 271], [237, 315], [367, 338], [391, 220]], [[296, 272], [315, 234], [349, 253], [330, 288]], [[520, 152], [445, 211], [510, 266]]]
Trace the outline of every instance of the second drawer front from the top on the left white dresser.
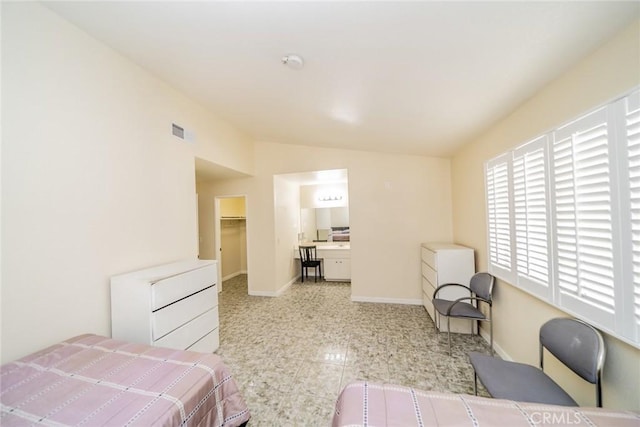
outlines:
[[217, 305], [218, 287], [212, 286], [156, 311], [151, 315], [153, 339], [162, 338]]

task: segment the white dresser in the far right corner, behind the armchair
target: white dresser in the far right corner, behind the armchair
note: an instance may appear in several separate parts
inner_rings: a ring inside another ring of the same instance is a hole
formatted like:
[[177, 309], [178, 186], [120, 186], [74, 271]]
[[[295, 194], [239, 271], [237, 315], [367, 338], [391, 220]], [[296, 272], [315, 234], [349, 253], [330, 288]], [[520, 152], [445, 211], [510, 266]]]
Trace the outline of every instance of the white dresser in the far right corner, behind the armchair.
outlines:
[[[471, 276], [475, 274], [473, 249], [452, 243], [423, 243], [422, 252], [422, 303], [435, 322], [433, 293], [445, 283], [460, 283], [469, 286]], [[455, 300], [469, 296], [469, 292], [459, 287], [445, 288], [438, 293], [443, 299]], [[440, 331], [447, 331], [446, 318], [442, 317]], [[469, 321], [451, 319], [451, 332], [470, 333]]]

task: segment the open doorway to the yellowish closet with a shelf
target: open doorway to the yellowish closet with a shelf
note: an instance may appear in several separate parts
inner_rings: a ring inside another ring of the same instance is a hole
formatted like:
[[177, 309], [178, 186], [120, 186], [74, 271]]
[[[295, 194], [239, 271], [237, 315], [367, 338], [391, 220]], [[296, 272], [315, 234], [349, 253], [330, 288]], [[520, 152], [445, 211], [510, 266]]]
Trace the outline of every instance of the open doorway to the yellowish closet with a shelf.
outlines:
[[246, 196], [216, 196], [214, 212], [220, 292], [225, 280], [247, 274]]

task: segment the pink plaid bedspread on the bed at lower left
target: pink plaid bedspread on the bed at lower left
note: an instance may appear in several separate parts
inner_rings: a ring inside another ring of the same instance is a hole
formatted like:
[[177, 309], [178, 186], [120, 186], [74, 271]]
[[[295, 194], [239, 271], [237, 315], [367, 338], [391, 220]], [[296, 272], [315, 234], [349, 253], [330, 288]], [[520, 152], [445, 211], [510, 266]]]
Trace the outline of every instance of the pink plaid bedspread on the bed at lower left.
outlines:
[[81, 335], [0, 367], [0, 425], [237, 426], [250, 417], [215, 354]]

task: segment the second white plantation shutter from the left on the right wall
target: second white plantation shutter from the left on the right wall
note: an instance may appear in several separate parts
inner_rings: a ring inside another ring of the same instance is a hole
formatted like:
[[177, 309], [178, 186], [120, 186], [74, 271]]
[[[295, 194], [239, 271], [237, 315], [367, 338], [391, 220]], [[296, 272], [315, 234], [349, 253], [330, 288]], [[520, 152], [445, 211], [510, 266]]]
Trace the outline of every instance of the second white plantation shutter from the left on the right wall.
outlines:
[[518, 285], [550, 297], [547, 136], [513, 152], [513, 207]]

